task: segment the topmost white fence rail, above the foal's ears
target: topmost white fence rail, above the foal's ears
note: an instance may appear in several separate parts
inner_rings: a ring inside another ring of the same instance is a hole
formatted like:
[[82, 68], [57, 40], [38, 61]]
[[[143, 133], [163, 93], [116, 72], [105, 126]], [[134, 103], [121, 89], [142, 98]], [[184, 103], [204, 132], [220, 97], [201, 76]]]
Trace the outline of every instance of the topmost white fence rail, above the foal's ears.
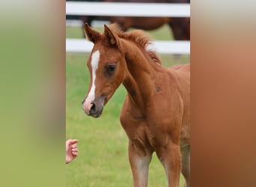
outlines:
[[66, 14], [79, 16], [189, 17], [190, 4], [67, 1]]

